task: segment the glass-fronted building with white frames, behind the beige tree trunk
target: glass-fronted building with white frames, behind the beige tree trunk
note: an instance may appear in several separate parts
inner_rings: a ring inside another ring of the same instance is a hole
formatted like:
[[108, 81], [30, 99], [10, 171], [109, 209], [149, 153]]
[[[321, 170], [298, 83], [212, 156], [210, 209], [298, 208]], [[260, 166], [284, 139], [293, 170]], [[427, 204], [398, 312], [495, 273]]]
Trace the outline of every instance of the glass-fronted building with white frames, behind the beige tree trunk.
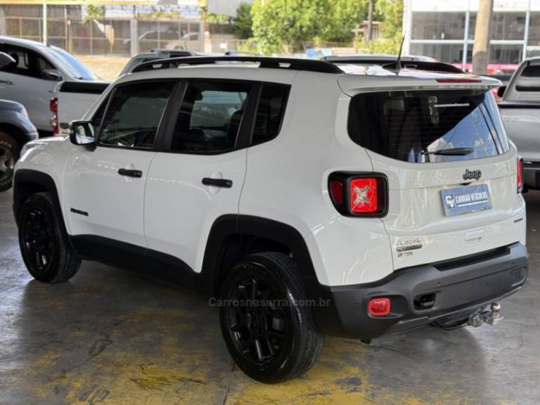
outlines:
[[[404, 52], [432, 56], [470, 69], [477, 0], [405, 0]], [[489, 71], [515, 70], [525, 58], [540, 56], [540, 0], [494, 0]]]

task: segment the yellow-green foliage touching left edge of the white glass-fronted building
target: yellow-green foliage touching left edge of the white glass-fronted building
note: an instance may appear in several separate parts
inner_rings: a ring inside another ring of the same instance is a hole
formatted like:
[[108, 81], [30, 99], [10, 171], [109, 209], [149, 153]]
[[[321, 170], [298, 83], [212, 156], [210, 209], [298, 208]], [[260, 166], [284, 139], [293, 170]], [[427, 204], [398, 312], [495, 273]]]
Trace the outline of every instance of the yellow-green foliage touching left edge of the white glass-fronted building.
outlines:
[[375, 15], [382, 17], [383, 38], [369, 44], [371, 53], [398, 53], [403, 37], [403, 0], [378, 0]]

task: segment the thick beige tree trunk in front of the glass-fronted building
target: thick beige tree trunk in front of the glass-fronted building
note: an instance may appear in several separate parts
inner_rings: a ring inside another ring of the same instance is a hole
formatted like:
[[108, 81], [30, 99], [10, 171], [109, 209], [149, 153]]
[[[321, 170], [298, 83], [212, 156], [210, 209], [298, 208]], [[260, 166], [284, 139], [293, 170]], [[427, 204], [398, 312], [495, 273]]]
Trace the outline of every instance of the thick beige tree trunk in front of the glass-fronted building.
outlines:
[[493, 13], [493, 0], [480, 0], [473, 46], [473, 73], [477, 75], [487, 74], [491, 13]]

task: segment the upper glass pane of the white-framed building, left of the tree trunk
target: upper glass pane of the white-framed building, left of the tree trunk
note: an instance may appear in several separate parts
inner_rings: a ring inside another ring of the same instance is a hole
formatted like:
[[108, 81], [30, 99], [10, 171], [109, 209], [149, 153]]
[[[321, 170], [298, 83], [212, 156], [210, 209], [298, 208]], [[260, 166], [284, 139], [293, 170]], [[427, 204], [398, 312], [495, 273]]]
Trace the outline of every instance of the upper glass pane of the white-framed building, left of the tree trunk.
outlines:
[[413, 13], [412, 39], [463, 39], [465, 13]]

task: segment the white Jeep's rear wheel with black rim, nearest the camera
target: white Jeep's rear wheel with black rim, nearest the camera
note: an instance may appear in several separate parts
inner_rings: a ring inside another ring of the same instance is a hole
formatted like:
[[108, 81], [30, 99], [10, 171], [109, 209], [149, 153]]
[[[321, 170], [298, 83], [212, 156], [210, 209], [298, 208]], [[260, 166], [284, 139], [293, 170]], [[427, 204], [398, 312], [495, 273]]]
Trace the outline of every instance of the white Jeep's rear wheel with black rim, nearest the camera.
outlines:
[[229, 353], [262, 383], [302, 375], [323, 347], [313, 310], [300, 302], [305, 293], [299, 274], [290, 257], [264, 252], [237, 264], [221, 287], [219, 321]]

